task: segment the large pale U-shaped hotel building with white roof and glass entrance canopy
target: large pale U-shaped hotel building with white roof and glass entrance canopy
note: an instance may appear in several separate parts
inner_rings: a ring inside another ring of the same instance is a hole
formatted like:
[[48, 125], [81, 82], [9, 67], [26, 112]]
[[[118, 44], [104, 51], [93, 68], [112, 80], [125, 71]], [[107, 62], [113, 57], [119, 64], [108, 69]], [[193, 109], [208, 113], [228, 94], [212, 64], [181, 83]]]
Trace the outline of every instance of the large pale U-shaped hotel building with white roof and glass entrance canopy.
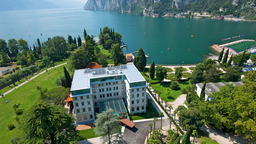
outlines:
[[[146, 112], [146, 80], [133, 64], [75, 70], [70, 97], [78, 123], [112, 108], [118, 116]], [[126, 106], [126, 108], [124, 107]]]

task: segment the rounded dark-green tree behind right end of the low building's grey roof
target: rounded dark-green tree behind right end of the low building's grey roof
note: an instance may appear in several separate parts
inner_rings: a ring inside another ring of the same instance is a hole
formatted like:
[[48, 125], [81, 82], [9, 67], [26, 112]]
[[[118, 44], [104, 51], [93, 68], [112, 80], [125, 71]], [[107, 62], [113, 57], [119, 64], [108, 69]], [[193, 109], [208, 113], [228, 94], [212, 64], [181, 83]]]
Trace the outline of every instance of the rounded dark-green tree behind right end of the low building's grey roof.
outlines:
[[223, 79], [226, 82], [236, 82], [241, 78], [241, 75], [232, 66], [229, 66], [224, 73]]

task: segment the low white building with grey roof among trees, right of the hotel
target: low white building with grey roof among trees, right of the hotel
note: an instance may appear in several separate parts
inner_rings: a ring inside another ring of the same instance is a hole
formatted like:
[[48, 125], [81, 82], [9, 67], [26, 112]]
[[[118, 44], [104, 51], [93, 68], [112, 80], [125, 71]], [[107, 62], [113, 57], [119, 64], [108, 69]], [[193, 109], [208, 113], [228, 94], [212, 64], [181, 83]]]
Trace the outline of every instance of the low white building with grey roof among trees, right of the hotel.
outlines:
[[[211, 102], [212, 98], [210, 97], [210, 94], [220, 91], [220, 88], [222, 86], [226, 86], [227, 83], [234, 84], [235, 86], [236, 85], [240, 86], [243, 84], [242, 82], [209, 82], [209, 83], [206, 83], [205, 90], [204, 90], [205, 91], [204, 99]], [[203, 82], [196, 84], [196, 93], [199, 97], [200, 97], [203, 85], [204, 85]]]

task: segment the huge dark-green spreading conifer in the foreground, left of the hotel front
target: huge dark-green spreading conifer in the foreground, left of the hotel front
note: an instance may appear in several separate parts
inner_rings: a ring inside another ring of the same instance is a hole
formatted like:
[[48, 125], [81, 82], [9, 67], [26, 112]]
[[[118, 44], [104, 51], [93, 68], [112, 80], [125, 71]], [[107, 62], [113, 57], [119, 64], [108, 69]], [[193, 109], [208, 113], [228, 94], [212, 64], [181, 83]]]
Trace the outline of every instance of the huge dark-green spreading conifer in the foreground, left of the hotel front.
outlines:
[[77, 143], [75, 119], [62, 106], [39, 100], [20, 119], [19, 128], [24, 133], [21, 143]]

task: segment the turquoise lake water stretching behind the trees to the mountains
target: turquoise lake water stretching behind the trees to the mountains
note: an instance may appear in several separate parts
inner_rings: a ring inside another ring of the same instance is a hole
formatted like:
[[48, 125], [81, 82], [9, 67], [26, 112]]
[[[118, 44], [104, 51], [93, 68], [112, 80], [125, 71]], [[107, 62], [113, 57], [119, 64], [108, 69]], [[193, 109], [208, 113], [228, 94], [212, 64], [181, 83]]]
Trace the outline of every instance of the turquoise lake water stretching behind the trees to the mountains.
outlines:
[[67, 39], [68, 34], [73, 38], [79, 34], [82, 38], [84, 28], [97, 37], [104, 26], [114, 28], [123, 36], [128, 46], [123, 48], [124, 53], [142, 48], [149, 54], [148, 64], [152, 60], [155, 64], [196, 64], [214, 53], [209, 46], [221, 44], [223, 38], [240, 34], [246, 34], [244, 39], [256, 38], [254, 22], [152, 18], [82, 8], [0, 11], [0, 38], [23, 38], [30, 46], [36, 45], [37, 38], [41, 42], [53, 36]]

